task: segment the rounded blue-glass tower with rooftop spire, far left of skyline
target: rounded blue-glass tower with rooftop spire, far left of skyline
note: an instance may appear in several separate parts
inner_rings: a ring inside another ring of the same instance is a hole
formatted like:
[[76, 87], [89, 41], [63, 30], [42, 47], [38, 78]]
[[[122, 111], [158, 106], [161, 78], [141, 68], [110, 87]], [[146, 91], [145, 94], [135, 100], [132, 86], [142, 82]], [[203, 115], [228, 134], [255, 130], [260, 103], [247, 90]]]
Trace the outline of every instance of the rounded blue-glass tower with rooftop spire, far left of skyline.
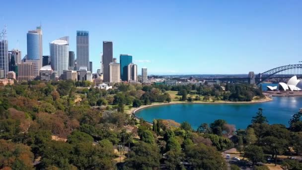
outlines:
[[38, 26], [36, 30], [27, 33], [27, 60], [34, 65], [34, 77], [39, 76], [42, 67], [42, 29]]

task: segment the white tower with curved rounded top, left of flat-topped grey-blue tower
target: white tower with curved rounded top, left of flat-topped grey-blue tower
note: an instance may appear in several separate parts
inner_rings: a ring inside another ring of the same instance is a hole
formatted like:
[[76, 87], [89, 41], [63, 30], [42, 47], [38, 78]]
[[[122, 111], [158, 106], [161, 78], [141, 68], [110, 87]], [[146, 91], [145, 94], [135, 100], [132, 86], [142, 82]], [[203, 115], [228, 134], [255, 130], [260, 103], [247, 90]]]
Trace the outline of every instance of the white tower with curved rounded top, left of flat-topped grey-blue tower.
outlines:
[[51, 68], [58, 72], [59, 79], [63, 75], [63, 71], [68, 70], [68, 53], [67, 41], [55, 40], [50, 43]]

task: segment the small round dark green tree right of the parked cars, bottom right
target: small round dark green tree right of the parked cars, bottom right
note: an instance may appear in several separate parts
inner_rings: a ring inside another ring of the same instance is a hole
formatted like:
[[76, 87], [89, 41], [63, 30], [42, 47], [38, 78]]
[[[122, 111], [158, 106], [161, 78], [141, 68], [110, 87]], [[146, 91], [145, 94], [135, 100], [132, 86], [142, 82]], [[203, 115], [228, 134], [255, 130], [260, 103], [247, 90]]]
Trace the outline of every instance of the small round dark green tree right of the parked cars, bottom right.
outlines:
[[244, 158], [248, 158], [255, 165], [263, 161], [263, 150], [256, 145], [249, 145], [244, 149]]

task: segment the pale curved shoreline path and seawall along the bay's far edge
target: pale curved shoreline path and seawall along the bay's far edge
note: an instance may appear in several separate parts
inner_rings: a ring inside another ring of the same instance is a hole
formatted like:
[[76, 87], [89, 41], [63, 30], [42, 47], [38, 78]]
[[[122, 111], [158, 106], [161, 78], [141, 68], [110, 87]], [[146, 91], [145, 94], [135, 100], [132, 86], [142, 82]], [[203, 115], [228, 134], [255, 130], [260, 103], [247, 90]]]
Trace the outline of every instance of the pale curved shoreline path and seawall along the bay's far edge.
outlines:
[[[135, 115], [136, 111], [139, 111], [144, 108], [153, 107], [153, 106], [160, 106], [160, 105], [172, 105], [172, 104], [255, 104], [255, 103], [263, 103], [263, 102], [269, 102], [272, 101], [273, 98], [266, 96], [264, 99], [254, 100], [254, 101], [195, 101], [195, 102], [183, 102], [183, 101], [171, 101], [169, 103], [153, 103], [150, 105], [142, 105], [141, 107], [133, 107], [127, 112], [127, 114], [134, 115], [137, 119], [140, 119]], [[150, 123], [150, 122], [149, 122]]]

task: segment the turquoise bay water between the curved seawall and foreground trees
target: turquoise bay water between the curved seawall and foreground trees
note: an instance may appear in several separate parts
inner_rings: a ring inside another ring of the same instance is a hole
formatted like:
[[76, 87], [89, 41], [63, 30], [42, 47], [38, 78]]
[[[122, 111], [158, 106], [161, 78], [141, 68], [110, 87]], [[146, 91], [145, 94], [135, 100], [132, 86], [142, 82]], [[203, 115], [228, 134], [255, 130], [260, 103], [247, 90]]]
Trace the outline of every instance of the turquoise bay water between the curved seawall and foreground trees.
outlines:
[[148, 107], [136, 112], [138, 117], [147, 121], [153, 119], [172, 119], [176, 122], [187, 121], [194, 129], [202, 123], [225, 119], [237, 129], [245, 129], [252, 117], [263, 108], [263, 114], [270, 124], [285, 124], [302, 107], [302, 97], [273, 97], [272, 101], [254, 104], [171, 104]]

